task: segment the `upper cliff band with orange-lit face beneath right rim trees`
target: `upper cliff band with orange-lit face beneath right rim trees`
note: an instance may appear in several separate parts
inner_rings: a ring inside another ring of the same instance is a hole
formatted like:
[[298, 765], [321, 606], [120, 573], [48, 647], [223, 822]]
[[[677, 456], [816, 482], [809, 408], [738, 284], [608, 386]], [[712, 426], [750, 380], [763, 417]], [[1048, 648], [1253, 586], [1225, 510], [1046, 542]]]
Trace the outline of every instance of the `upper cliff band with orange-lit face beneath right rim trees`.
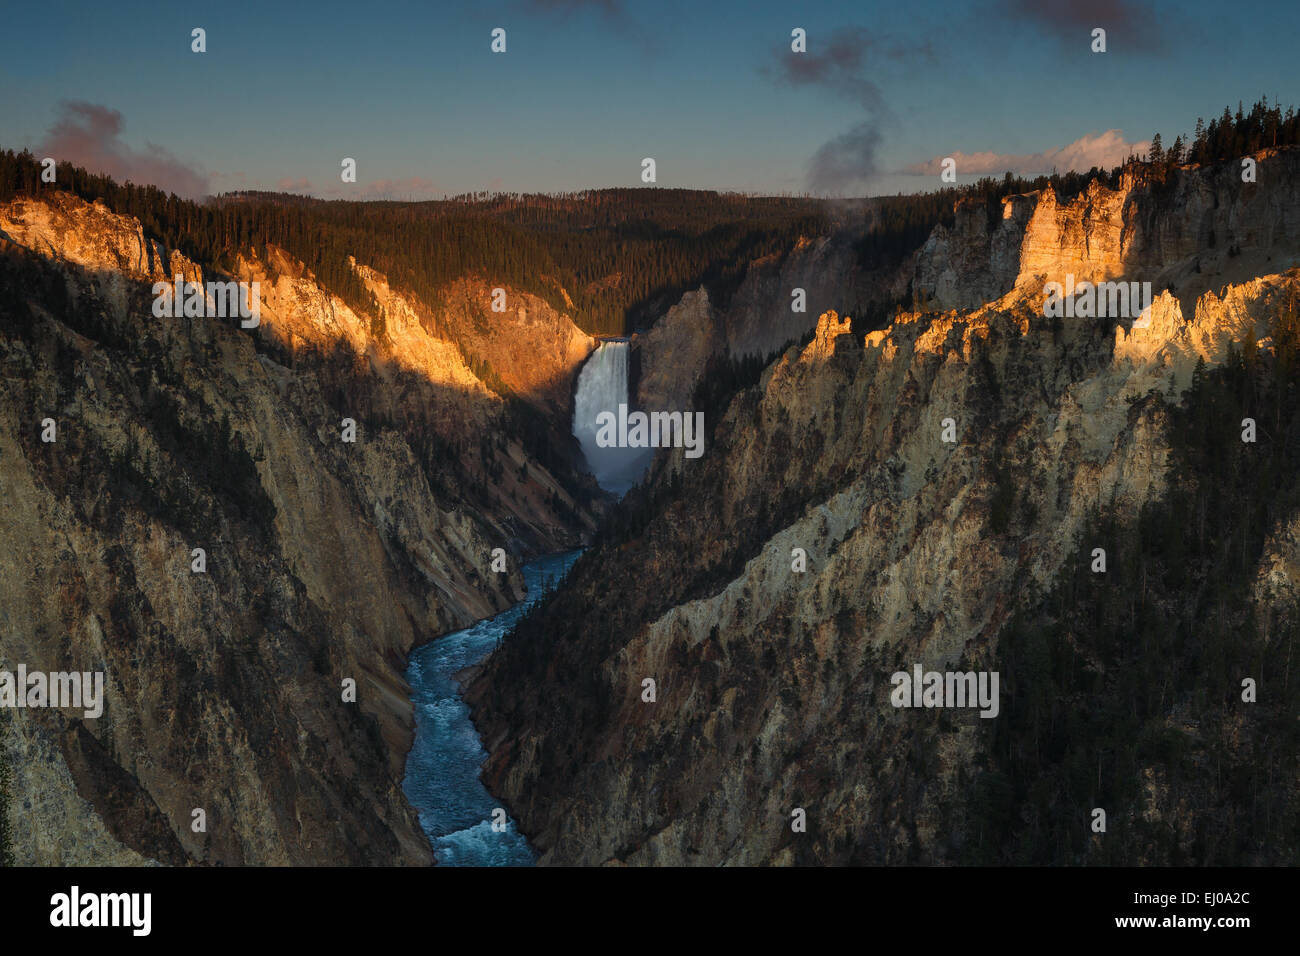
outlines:
[[1131, 166], [1117, 189], [1093, 179], [1066, 202], [1052, 189], [1008, 196], [992, 224], [982, 204], [962, 203], [918, 254], [915, 287], [932, 308], [975, 308], [1018, 284], [1126, 278], [1173, 286], [1190, 312], [1209, 289], [1300, 261], [1300, 150], [1249, 159], [1253, 182], [1235, 163]]

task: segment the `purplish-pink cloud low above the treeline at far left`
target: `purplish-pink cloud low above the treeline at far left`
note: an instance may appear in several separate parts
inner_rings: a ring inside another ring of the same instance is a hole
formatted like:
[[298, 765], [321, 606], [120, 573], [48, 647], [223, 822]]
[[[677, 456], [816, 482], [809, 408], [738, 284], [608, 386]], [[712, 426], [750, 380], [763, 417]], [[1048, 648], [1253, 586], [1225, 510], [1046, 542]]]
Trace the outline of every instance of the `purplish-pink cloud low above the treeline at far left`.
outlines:
[[58, 104], [58, 118], [38, 144], [42, 156], [72, 163], [118, 182], [152, 185], [187, 199], [200, 199], [211, 190], [211, 176], [173, 156], [155, 143], [136, 151], [122, 142], [125, 127], [116, 109], [83, 100]]

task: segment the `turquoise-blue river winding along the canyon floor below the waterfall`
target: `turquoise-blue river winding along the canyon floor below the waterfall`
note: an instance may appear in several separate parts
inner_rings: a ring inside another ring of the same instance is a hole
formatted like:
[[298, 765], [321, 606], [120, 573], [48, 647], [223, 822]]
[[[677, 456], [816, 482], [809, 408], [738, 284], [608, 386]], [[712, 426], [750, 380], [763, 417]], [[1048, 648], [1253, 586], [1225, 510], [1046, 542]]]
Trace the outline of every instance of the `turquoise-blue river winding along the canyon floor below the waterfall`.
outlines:
[[532, 866], [537, 860], [514, 819], [503, 832], [493, 831], [493, 810], [500, 801], [478, 777], [488, 752], [451, 675], [488, 657], [524, 611], [559, 584], [581, 553], [550, 554], [524, 564], [528, 596], [523, 601], [411, 653], [406, 678], [415, 708], [415, 743], [403, 790], [420, 814], [439, 866]]

